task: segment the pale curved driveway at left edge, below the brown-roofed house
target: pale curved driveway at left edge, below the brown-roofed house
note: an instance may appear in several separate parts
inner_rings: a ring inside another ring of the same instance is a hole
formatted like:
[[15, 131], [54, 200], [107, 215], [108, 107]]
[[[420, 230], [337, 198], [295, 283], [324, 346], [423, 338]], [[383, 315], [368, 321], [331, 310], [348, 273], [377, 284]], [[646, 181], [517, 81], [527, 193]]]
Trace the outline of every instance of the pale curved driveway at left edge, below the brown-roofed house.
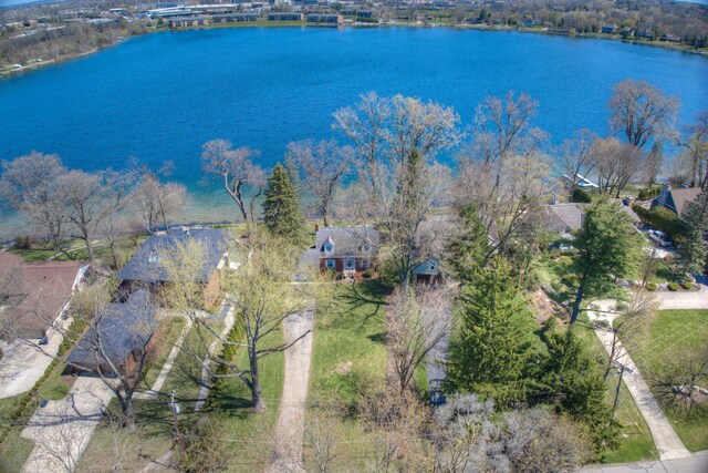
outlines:
[[[58, 319], [56, 321], [61, 321], [67, 327], [71, 319]], [[56, 354], [62, 342], [62, 335], [50, 328], [46, 338], [49, 345], [42, 349], [52, 356]], [[0, 399], [28, 392], [52, 362], [52, 359], [42, 353], [37, 345], [28, 343], [29, 341], [14, 341], [2, 347], [4, 356], [0, 360]]]

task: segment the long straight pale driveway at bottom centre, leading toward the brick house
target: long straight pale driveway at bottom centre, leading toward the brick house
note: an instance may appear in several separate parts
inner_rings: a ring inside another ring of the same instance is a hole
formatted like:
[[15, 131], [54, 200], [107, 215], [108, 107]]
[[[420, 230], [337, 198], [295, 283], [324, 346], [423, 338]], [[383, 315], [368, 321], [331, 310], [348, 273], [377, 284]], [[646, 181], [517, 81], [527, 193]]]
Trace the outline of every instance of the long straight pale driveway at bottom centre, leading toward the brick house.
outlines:
[[304, 435], [310, 360], [312, 358], [312, 330], [314, 310], [291, 316], [283, 322], [287, 342], [310, 332], [285, 350], [285, 380], [280, 400], [280, 415], [275, 426], [274, 461], [269, 473], [302, 472], [302, 441]]

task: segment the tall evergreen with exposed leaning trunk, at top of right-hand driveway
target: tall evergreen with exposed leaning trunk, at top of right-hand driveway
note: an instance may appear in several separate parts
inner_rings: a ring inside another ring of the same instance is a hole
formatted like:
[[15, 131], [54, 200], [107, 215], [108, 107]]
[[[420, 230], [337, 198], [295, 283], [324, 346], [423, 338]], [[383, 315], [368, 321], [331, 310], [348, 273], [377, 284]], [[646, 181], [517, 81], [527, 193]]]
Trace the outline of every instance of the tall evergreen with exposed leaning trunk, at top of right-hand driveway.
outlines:
[[614, 277], [625, 277], [638, 264], [643, 243], [618, 204], [601, 202], [587, 210], [575, 246], [577, 290], [571, 325], [577, 320], [585, 291], [602, 290]]

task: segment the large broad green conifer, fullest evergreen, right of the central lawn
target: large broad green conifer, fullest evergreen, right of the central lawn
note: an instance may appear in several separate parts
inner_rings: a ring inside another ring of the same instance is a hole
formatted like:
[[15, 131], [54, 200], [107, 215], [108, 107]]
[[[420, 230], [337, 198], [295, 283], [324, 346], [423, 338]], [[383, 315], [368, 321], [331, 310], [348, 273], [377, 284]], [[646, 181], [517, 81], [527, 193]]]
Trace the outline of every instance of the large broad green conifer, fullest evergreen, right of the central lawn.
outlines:
[[527, 392], [533, 317], [511, 267], [494, 257], [477, 270], [460, 298], [461, 327], [452, 343], [450, 383], [509, 405]]

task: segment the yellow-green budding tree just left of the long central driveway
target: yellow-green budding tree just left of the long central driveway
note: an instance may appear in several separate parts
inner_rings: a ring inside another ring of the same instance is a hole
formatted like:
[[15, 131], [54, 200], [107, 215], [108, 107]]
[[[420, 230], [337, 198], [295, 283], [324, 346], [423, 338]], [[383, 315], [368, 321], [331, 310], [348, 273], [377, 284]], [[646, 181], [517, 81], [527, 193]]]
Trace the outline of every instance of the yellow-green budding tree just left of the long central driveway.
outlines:
[[[240, 330], [221, 337], [204, 318], [204, 297], [195, 279], [205, 251], [200, 241], [188, 241], [175, 245], [169, 253], [160, 256], [171, 281], [167, 297], [173, 307], [191, 318], [198, 337], [198, 346], [185, 346], [183, 350], [197, 358], [210, 377], [240, 379], [251, 392], [253, 409], [263, 412], [266, 401], [260, 384], [260, 360], [289, 349], [309, 333], [305, 331], [289, 342], [271, 342], [285, 319], [313, 310], [316, 285], [292, 282], [299, 249], [267, 234], [252, 233], [248, 247], [235, 243], [229, 248], [230, 257], [240, 257], [248, 264], [222, 281], [223, 289], [231, 298]], [[233, 339], [232, 333], [242, 333], [242, 338]], [[241, 366], [236, 359], [204, 350], [215, 338], [225, 347], [244, 348], [248, 364]]]

